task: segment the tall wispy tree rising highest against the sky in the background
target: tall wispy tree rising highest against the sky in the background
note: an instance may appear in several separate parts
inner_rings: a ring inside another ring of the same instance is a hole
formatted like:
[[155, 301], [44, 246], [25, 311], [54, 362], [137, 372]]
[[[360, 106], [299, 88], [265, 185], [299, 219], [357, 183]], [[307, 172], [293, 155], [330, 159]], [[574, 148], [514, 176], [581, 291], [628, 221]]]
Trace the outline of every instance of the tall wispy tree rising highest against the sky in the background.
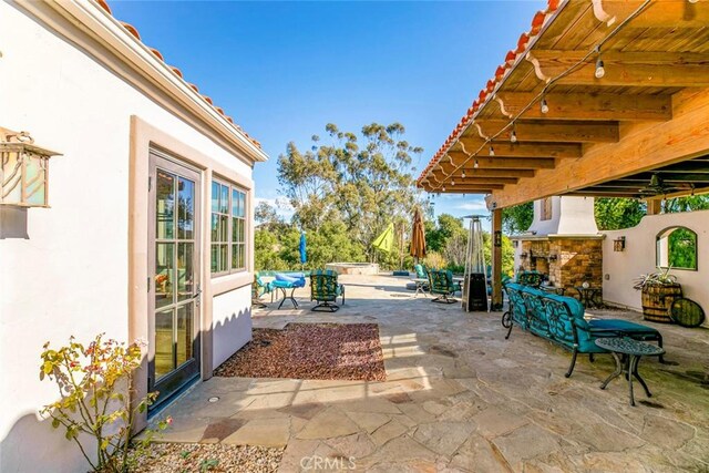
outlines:
[[[412, 157], [421, 147], [403, 138], [399, 123], [361, 128], [361, 136], [326, 126], [328, 143], [312, 137], [301, 153], [294, 143], [278, 158], [278, 178], [295, 208], [294, 222], [314, 232], [326, 222], [342, 222], [349, 238], [372, 259], [371, 241], [397, 217], [411, 218], [425, 206], [414, 187]], [[341, 258], [338, 258], [341, 259]]]

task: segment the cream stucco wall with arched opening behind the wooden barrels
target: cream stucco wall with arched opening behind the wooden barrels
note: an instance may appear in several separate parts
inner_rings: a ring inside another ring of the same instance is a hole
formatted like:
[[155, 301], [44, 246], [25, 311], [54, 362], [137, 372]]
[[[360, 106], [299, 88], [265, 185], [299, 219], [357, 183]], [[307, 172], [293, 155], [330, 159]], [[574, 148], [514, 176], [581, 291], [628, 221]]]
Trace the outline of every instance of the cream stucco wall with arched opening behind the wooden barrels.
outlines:
[[[709, 313], [709, 210], [648, 215], [636, 227], [602, 232], [606, 235], [603, 244], [603, 296], [606, 301], [641, 310], [640, 292], [633, 289], [633, 279], [656, 270], [656, 236], [672, 226], [685, 226], [697, 233], [699, 270], [672, 269], [671, 274], [682, 285], [685, 296]], [[625, 251], [614, 251], [613, 240], [620, 236], [626, 237]], [[709, 323], [705, 322], [705, 326], [709, 327]]]

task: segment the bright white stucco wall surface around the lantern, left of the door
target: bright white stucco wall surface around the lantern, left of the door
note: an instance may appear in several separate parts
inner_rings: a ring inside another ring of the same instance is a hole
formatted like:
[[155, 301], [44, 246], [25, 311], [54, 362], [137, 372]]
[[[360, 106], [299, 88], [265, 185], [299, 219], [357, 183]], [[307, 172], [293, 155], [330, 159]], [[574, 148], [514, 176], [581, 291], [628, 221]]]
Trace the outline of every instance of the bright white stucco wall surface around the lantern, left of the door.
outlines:
[[[70, 335], [126, 340], [130, 116], [251, 169], [7, 2], [0, 44], [0, 126], [63, 154], [50, 164], [51, 208], [28, 210], [28, 238], [0, 239], [0, 471], [85, 471], [75, 445], [37, 420], [55, 398], [39, 381], [39, 353]], [[235, 292], [240, 311], [249, 296]]]

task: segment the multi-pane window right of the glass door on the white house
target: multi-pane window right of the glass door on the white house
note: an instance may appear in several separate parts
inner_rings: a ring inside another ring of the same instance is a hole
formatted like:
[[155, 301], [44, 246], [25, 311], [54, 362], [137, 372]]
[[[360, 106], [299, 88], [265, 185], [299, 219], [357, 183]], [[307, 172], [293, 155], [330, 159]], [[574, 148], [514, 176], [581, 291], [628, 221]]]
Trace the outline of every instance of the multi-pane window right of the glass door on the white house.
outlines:
[[212, 182], [212, 274], [246, 269], [246, 194]]

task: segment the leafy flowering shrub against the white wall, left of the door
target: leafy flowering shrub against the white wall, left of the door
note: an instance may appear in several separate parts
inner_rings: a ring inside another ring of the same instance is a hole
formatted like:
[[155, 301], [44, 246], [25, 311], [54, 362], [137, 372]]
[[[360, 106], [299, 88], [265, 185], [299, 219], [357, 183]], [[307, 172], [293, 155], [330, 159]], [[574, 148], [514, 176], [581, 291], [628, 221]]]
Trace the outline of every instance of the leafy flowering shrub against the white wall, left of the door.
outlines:
[[[144, 343], [126, 346], [104, 340], [101, 333], [89, 346], [74, 337], [56, 350], [49, 345], [44, 343], [41, 354], [40, 379], [54, 381], [61, 399], [45, 405], [41, 413], [52, 418], [54, 429], [65, 429], [66, 440], [79, 445], [94, 471], [126, 472], [135, 414], [145, 412], [157, 398], [157, 392], [151, 392], [137, 405], [131, 404], [134, 372], [141, 366]], [[166, 429], [171, 422], [168, 418], [157, 428]], [[95, 439], [95, 461], [82, 444], [81, 433]], [[150, 431], [135, 446], [147, 448], [153, 433]]]

